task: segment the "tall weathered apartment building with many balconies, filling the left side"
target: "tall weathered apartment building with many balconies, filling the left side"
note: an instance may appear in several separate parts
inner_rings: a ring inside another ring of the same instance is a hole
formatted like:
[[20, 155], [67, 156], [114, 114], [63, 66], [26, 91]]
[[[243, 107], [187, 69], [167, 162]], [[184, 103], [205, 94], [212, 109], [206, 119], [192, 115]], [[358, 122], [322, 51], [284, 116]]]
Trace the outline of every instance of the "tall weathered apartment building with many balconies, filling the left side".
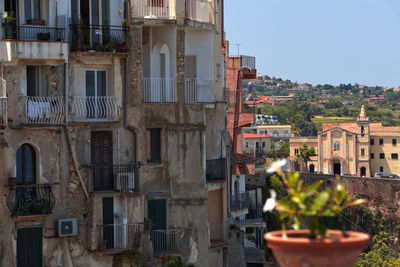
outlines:
[[224, 266], [223, 0], [0, 0], [0, 265]]

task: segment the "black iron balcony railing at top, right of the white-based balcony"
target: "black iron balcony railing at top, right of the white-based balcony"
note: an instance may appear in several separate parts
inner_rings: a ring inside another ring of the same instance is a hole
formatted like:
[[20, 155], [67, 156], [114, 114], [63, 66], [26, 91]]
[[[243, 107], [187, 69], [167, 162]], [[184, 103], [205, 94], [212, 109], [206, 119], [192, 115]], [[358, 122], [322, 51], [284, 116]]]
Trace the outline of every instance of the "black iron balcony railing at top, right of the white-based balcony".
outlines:
[[126, 53], [130, 47], [130, 32], [127, 26], [70, 25], [71, 51]]

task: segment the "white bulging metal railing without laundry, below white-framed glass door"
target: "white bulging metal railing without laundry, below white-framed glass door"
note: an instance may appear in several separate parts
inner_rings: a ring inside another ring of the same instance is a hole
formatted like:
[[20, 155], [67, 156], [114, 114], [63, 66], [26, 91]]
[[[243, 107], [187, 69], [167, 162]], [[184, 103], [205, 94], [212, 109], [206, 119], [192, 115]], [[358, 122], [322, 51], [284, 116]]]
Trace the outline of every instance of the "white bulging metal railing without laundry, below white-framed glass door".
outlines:
[[121, 115], [121, 105], [116, 96], [74, 96], [72, 113], [74, 121], [116, 121]]

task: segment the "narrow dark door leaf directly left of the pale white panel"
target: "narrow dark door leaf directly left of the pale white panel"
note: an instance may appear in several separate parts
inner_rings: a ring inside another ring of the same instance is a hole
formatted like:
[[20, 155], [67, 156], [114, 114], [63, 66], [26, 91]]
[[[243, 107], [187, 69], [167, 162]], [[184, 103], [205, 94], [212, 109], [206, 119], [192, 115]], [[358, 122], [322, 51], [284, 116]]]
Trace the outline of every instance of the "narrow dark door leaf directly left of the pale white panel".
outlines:
[[103, 197], [103, 245], [114, 248], [114, 199]]

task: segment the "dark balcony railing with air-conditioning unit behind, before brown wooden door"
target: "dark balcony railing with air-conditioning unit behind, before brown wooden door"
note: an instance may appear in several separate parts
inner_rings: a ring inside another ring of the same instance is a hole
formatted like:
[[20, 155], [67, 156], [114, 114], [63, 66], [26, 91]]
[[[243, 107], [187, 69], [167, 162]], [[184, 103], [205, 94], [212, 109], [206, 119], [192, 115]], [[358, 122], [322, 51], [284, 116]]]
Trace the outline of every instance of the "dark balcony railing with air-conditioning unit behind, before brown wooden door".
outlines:
[[139, 192], [139, 169], [135, 165], [92, 166], [93, 191]]

